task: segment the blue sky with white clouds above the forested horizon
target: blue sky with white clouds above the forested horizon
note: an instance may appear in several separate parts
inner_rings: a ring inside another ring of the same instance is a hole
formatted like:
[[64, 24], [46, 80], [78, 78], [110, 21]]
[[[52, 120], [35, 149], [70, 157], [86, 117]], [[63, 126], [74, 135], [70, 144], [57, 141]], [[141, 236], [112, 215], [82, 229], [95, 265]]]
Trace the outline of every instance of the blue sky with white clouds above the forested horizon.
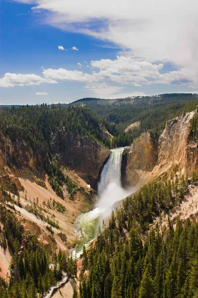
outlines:
[[120, 5], [2, 0], [0, 104], [198, 92], [197, 1]]

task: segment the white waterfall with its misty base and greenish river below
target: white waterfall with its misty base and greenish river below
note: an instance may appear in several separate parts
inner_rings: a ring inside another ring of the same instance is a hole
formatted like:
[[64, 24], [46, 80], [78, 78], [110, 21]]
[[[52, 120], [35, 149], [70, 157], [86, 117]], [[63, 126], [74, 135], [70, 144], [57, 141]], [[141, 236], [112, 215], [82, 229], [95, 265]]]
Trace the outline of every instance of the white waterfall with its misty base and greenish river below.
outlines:
[[84, 244], [97, 236], [102, 220], [109, 216], [114, 204], [126, 198], [132, 191], [126, 191], [121, 184], [121, 162], [124, 148], [111, 149], [111, 154], [105, 164], [98, 183], [98, 202], [96, 208], [81, 214], [75, 222], [75, 233], [78, 238], [74, 253], [81, 253]]

